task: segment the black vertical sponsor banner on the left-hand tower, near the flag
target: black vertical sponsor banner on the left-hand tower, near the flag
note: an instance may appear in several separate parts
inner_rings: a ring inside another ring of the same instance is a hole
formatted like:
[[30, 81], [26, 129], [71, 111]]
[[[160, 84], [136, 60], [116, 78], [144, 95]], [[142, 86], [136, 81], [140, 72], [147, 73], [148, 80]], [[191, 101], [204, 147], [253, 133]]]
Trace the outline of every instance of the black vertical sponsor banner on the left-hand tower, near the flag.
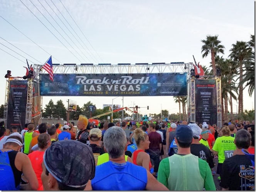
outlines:
[[15, 125], [18, 132], [24, 129], [26, 120], [27, 81], [10, 81], [7, 128]]

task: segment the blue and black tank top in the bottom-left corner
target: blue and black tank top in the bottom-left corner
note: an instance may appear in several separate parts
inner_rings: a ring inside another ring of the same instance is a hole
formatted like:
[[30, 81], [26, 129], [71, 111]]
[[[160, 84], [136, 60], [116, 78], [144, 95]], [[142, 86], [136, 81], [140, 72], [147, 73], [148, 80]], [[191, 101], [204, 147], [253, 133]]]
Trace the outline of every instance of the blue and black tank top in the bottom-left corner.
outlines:
[[0, 150], [0, 190], [20, 190], [22, 172], [15, 167], [17, 153]]

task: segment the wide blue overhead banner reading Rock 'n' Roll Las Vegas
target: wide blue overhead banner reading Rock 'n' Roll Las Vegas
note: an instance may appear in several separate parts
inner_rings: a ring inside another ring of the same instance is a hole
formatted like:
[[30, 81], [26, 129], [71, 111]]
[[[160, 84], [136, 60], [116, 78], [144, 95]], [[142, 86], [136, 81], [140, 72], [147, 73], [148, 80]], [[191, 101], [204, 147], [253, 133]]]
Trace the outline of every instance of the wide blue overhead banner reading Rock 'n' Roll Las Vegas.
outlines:
[[185, 96], [187, 73], [40, 74], [40, 95]]

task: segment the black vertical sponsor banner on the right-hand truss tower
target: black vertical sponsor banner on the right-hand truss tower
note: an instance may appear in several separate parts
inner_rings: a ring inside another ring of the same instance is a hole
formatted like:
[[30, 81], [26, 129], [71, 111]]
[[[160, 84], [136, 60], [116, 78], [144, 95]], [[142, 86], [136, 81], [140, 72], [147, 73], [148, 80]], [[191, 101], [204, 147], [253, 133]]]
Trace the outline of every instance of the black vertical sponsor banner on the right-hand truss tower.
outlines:
[[216, 80], [195, 80], [195, 121], [217, 124]]

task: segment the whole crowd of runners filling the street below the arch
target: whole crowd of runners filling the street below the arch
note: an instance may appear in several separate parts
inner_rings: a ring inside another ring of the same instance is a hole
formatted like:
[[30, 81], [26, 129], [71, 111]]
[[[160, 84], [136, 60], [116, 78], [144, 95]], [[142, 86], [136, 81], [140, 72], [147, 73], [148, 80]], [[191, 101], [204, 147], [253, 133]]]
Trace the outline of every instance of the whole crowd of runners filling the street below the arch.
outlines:
[[215, 174], [255, 190], [254, 121], [0, 125], [0, 190], [216, 190]]

